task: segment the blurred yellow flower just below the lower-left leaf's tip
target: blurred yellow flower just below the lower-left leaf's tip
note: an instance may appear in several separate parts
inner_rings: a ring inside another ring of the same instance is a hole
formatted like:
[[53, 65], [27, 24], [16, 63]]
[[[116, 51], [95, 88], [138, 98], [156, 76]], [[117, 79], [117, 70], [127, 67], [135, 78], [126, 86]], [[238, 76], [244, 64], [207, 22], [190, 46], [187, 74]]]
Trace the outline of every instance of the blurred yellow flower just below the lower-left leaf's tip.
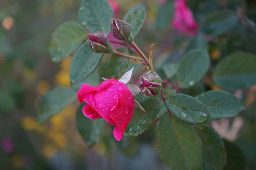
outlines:
[[26, 116], [21, 119], [21, 126], [24, 130], [32, 130], [37, 132], [43, 132], [44, 129], [41, 127], [36, 120], [31, 116]]

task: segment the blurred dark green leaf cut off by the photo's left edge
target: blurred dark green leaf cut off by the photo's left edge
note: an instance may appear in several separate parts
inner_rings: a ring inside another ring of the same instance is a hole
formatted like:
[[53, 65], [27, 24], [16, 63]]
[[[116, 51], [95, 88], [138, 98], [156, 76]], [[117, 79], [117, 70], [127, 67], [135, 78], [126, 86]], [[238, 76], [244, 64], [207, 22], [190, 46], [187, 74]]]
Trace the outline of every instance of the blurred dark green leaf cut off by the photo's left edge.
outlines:
[[0, 113], [15, 109], [15, 100], [4, 91], [0, 91]]

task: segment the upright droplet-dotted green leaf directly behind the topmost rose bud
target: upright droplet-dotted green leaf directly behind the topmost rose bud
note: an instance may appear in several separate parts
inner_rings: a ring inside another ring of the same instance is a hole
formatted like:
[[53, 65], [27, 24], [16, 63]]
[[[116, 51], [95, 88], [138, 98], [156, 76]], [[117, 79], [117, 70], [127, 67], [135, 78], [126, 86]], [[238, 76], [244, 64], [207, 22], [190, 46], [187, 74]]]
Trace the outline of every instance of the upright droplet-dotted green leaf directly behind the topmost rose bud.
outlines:
[[135, 36], [146, 19], [147, 11], [145, 3], [140, 3], [131, 8], [124, 17], [124, 21], [131, 24], [131, 33]]

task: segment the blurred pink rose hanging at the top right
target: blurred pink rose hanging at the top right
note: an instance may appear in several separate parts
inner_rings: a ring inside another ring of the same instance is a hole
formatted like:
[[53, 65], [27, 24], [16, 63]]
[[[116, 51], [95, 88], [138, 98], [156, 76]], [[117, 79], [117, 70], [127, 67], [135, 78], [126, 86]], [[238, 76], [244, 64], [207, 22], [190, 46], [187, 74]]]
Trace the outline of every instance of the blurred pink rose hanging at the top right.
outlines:
[[191, 36], [198, 32], [198, 24], [196, 23], [192, 12], [186, 6], [186, 0], [175, 0], [172, 26], [178, 31]]

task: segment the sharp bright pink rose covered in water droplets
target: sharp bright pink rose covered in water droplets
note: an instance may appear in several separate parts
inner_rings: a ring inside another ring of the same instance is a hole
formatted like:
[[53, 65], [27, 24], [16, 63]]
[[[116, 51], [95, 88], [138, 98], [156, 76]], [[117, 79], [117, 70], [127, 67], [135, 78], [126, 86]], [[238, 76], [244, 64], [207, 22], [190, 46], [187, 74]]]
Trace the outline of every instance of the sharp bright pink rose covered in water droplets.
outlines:
[[89, 119], [105, 119], [114, 125], [113, 135], [122, 139], [134, 113], [134, 98], [128, 87], [116, 79], [108, 79], [96, 87], [83, 84], [77, 93], [79, 102], [87, 102], [83, 108]]

